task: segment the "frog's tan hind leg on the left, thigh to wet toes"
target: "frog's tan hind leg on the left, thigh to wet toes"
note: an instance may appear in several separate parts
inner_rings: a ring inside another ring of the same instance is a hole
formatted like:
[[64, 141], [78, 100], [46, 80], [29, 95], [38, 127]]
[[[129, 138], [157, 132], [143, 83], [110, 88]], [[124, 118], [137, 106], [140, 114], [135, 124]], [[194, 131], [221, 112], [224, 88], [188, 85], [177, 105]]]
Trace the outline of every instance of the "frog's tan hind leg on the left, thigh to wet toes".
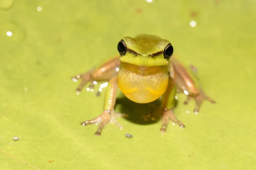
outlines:
[[93, 89], [93, 81], [109, 81], [112, 77], [116, 76], [119, 71], [119, 55], [113, 57], [99, 67], [92, 68], [84, 74], [78, 74], [72, 77], [73, 82], [77, 82], [81, 79], [79, 86], [76, 88], [76, 92], [79, 94], [82, 88], [90, 82], [89, 89]]

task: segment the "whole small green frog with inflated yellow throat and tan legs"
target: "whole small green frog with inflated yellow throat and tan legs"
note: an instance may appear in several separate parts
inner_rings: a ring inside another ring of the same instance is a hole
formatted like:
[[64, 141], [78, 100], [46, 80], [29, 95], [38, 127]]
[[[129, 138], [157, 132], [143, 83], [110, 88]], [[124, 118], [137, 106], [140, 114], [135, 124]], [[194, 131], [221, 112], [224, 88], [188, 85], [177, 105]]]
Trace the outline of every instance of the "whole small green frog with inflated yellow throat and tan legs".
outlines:
[[144, 116], [145, 120], [154, 120], [155, 113], [161, 113], [162, 125], [160, 131], [166, 132], [169, 121], [176, 122], [181, 128], [185, 125], [174, 114], [176, 94], [183, 91], [187, 95], [184, 104], [195, 99], [194, 111], [198, 112], [202, 102], [207, 99], [215, 101], [202, 90], [194, 68], [187, 69], [176, 58], [172, 57], [174, 48], [169, 40], [151, 34], [139, 34], [136, 37], [123, 37], [117, 43], [118, 55], [102, 62], [83, 74], [72, 77], [74, 82], [81, 79], [76, 88], [79, 94], [85, 85], [94, 82], [108, 82], [104, 94], [102, 114], [94, 119], [81, 122], [81, 125], [98, 125], [96, 136], [101, 136], [108, 123], [122, 129], [117, 118], [128, 117], [126, 113], [114, 110], [116, 92], [119, 88], [122, 94], [136, 103], [151, 104], [157, 99], [161, 103], [157, 108]]

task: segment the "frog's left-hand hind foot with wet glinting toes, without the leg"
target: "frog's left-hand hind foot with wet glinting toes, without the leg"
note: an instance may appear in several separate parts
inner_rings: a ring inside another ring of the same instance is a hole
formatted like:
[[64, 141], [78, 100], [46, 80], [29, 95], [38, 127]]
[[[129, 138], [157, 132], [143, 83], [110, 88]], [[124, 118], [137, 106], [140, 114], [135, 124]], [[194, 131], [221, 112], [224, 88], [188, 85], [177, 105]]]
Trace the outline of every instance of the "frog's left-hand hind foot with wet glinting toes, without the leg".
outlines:
[[[73, 82], [77, 82], [78, 79], [81, 79], [81, 82], [79, 84], [79, 86], [76, 88], [76, 93], [79, 94], [80, 91], [83, 89], [83, 87], [91, 80], [91, 71], [87, 71], [86, 73], [84, 74], [79, 74], [79, 75], [76, 75], [76, 76], [73, 76], [72, 77], [72, 81]], [[89, 88], [93, 88], [93, 83], [90, 84]]]

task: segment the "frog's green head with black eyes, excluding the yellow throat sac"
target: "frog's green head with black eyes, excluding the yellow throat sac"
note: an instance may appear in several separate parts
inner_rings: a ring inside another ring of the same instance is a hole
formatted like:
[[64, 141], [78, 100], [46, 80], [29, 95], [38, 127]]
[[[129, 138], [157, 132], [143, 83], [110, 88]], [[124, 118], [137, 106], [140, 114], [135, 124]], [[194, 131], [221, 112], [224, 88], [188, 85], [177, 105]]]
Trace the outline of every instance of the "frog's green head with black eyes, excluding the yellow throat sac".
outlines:
[[117, 50], [120, 62], [145, 67], [168, 65], [173, 54], [168, 40], [145, 34], [135, 38], [124, 37], [119, 41]]

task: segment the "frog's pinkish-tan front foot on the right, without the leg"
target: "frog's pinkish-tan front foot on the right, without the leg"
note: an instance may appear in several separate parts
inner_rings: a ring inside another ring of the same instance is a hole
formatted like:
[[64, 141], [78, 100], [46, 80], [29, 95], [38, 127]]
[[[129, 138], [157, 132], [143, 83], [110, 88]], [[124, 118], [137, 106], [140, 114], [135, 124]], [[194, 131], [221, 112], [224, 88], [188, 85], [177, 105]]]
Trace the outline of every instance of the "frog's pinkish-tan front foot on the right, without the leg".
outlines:
[[173, 113], [173, 109], [169, 109], [169, 110], [165, 110], [163, 111], [163, 115], [162, 115], [162, 128], [160, 129], [161, 132], [166, 132], [167, 126], [169, 124], [170, 119], [173, 122], [176, 122], [180, 125], [181, 128], [185, 127], [185, 125], [180, 122]]

